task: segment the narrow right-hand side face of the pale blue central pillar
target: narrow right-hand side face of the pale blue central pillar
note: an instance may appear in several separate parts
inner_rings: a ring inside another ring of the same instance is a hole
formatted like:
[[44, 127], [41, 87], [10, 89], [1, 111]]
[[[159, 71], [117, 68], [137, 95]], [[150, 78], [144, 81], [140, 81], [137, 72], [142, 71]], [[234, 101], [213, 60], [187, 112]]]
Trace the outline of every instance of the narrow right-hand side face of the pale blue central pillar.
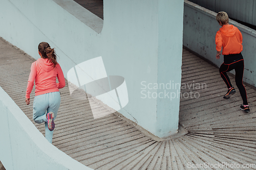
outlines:
[[157, 82], [165, 85], [164, 89], [158, 89], [158, 94], [162, 94], [157, 98], [156, 129], [159, 137], [173, 135], [178, 130], [182, 34], [183, 1], [159, 0]]

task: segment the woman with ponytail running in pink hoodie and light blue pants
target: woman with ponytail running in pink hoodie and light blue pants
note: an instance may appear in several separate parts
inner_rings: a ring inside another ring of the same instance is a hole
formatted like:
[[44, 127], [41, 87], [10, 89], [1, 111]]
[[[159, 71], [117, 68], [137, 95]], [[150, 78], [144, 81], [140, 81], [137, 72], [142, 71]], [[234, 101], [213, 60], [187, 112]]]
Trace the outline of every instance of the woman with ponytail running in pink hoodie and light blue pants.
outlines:
[[[35, 81], [35, 98], [33, 102], [33, 119], [37, 124], [45, 123], [46, 139], [52, 143], [54, 119], [60, 105], [59, 89], [65, 86], [65, 78], [60, 65], [56, 61], [54, 48], [47, 42], [38, 45], [41, 58], [31, 65], [26, 91], [26, 103], [30, 104], [30, 93]], [[56, 77], [59, 83], [56, 83]]]

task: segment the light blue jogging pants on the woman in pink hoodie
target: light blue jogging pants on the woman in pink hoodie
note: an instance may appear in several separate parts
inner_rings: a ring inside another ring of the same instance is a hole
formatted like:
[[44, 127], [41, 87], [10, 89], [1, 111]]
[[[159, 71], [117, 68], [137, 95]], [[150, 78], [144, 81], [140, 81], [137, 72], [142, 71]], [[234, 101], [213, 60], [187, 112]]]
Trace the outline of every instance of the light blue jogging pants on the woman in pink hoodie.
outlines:
[[46, 115], [49, 112], [54, 113], [54, 119], [57, 116], [60, 105], [60, 93], [50, 92], [35, 96], [33, 102], [33, 119], [37, 124], [45, 123], [46, 128], [46, 139], [52, 143], [53, 131], [48, 128]]

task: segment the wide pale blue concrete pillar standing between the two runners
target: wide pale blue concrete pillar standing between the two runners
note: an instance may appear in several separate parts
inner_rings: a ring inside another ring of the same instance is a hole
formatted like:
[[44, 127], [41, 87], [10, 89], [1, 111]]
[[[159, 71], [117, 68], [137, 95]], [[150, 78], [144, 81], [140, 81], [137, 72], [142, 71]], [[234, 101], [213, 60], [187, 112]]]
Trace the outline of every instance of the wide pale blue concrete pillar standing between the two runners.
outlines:
[[183, 5], [178, 0], [104, 1], [102, 34], [108, 32], [108, 41], [103, 48], [112, 56], [104, 63], [115, 65], [106, 70], [109, 75], [119, 70], [129, 94], [129, 104], [119, 112], [160, 138], [178, 130]]

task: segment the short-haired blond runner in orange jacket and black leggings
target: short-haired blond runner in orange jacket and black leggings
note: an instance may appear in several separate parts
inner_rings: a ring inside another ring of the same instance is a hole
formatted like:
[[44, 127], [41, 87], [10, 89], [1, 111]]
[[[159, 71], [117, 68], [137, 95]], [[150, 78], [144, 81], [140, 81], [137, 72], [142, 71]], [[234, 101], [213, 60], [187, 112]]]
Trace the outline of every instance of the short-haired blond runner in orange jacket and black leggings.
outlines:
[[247, 94], [243, 85], [244, 59], [241, 54], [243, 51], [242, 34], [237, 27], [229, 25], [226, 12], [219, 12], [216, 16], [216, 20], [219, 25], [222, 26], [215, 37], [217, 50], [216, 58], [220, 59], [222, 48], [224, 62], [220, 66], [220, 75], [228, 88], [228, 91], [223, 98], [229, 99], [230, 96], [236, 92], [226, 73], [234, 69], [236, 71], [236, 84], [243, 99], [243, 104], [240, 106], [240, 109], [249, 112], [250, 109], [247, 102]]

